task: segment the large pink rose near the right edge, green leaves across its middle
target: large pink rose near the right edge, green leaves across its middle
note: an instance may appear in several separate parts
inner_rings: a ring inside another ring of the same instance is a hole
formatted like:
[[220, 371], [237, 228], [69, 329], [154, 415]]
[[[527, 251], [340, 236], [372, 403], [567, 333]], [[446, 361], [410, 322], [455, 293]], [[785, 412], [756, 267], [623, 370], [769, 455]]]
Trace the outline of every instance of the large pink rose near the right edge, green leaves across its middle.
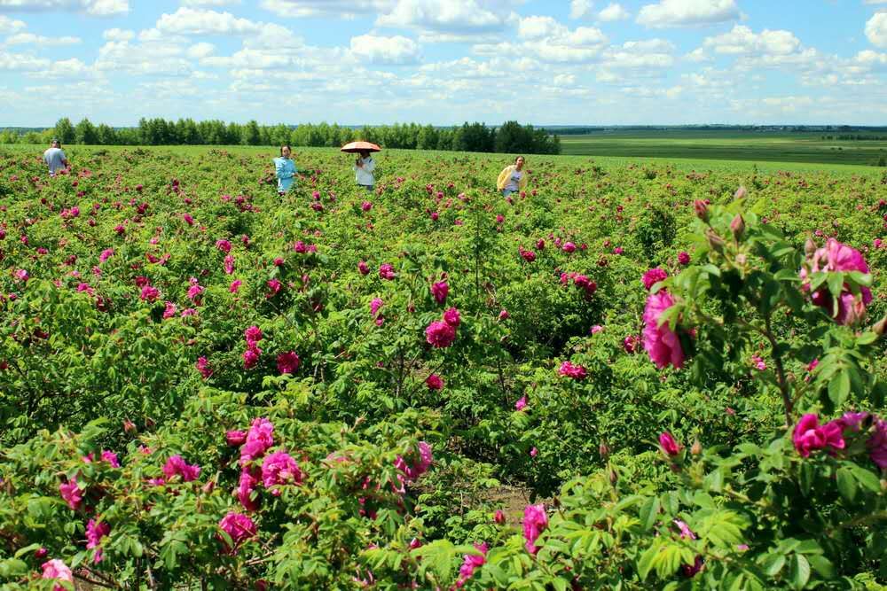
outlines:
[[[858, 250], [838, 242], [835, 238], [828, 238], [826, 245], [812, 253], [805, 262], [805, 267], [801, 269], [800, 276], [804, 280], [802, 286], [805, 291], [810, 290], [808, 277], [820, 271], [868, 273], [868, 265]], [[835, 306], [828, 287], [823, 285], [813, 292], [811, 299], [816, 306], [825, 308], [836, 323], [854, 324], [860, 322], [865, 315], [866, 306], [872, 301], [872, 291], [860, 286], [859, 295], [853, 295], [849, 285], [844, 284], [844, 291], [841, 292]]]

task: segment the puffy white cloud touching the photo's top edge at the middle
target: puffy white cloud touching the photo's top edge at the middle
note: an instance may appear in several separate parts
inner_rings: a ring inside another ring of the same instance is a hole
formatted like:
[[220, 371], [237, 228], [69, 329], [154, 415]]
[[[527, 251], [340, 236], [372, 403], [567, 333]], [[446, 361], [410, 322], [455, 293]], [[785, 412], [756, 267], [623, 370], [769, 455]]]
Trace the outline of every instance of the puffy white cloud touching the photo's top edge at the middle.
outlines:
[[489, 33], [503, 30], [514, 18], [506, 5], [494, 0], [397, 0], [391, 12], [376, 19], [376, 25], [456, 35]]

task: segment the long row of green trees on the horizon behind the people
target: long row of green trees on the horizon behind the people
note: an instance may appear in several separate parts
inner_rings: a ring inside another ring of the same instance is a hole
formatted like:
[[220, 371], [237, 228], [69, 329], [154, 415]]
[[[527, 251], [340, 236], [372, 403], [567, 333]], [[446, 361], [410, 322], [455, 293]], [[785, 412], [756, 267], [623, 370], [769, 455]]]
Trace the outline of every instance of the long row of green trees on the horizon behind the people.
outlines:
[[246, 124], [224, 121], [145, 119], [137, 128], [94, 125], [84, 119], [76, 125], [66, 118], [54, 128], [20, 134], [11, 129], [0, 132], [0, 144], [48, 144], [57, 137], [65, 144], [92, 145], [283, 145], [339, 147], [356, 139], [386, 148], [406, 150], [452, 150], [459, 152], [506, 152], [559, 154], [561, 140], [544, 128], [506, 121], [499, 127], [467, 121], [452, 128], [404, 123], [349, 128], [338, 124], [304, 124], [296, 127]]

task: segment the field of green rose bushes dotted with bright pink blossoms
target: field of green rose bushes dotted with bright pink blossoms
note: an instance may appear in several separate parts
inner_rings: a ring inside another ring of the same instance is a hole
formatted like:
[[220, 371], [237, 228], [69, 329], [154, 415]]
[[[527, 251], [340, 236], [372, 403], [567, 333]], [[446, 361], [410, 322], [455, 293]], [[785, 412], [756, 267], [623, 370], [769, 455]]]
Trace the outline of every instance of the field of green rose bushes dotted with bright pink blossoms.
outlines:
[[0, 589], [887, 588], [883, 170], [68, 155], [0, 151]]

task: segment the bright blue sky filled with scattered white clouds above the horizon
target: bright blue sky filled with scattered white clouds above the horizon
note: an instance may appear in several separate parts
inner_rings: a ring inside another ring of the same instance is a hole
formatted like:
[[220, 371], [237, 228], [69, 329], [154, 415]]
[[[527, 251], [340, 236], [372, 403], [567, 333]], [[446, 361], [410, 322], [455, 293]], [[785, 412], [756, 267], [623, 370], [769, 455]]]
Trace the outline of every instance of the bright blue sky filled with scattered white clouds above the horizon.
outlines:
[[887, 0], [0, 0], [0, 127], [887, 124]]

